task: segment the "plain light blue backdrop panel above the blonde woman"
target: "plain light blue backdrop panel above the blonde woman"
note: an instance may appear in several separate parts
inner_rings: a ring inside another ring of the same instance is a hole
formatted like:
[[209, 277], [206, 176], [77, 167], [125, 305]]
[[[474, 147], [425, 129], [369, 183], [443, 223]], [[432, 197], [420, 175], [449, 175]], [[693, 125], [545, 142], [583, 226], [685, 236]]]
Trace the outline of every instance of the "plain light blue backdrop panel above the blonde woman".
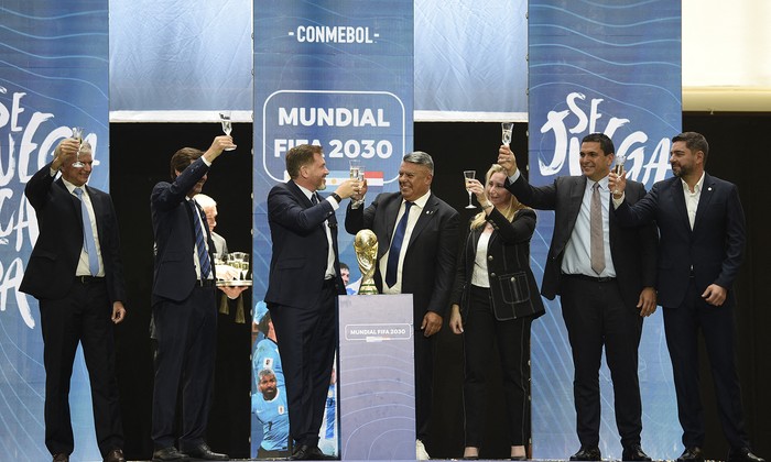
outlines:
[[415, 0], [415, 109], [528, 111], [525, 0]]

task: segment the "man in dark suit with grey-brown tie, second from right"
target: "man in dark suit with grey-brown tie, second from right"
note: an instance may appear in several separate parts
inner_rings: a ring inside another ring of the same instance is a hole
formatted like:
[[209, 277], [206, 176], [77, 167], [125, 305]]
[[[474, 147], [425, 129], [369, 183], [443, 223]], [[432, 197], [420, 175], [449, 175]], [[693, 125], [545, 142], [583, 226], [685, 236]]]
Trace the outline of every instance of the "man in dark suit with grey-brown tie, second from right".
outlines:
[[[640, 447], [642, 404], [638, 380], [638, 346], [642, 319], [655, 310], [656, 235], [653, 226], [625, 229], [610, 213], [608, 174], [612, 141], [602, 133], [584, 136], [582, 176], [562, 176], [533, 187], [517, 169], [509, 146], [498, 163], [509, 172], [508, 189], [530, 207], [554, 210], [554, 234], [541, 294], [561, 296], [562, 315], [573, 351], [573, 393], [580, 449], [575, 461], [598, 461], [599, 366], [605, 346], [616, 397], [616, 425], [622, 460], [651, 460]], [[628, 198], [645, 194], [630, 183]], [[593, 204], [594, 202], [594, 204]]]

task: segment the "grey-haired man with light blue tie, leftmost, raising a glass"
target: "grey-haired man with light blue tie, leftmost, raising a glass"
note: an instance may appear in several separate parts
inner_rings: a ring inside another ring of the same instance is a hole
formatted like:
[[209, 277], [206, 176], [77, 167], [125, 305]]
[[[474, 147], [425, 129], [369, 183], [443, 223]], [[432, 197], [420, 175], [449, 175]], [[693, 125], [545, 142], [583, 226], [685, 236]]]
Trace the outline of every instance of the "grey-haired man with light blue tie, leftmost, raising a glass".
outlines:
[[[82, 167], [73, 166], [79, 150]], [[126, 317], [126, 287], [112, 199], [86, 186], [91, 147], [75, 139], [26, 184], [40, 235], [20, 289], [40, 302], [45, 364], [45, 446], [66, 462], [75, 441], [69, 380], [78, 342], [89, 371], [97, 443], [105, 461], [123, 461], [112, 324]], [[62, 177], [56, 178], [57, 172]]]

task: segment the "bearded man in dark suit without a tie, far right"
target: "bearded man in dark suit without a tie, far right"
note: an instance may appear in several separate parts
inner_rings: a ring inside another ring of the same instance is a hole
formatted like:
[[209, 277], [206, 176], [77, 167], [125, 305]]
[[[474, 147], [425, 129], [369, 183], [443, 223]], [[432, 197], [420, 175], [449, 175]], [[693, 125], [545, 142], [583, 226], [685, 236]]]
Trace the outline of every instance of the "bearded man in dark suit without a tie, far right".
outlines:
[[626, 226], [655, 221], [661, 233], [659, 301], [664, 307], [666, 345], [672, 359], [677, 414], [685, 451], [681, 462], [702, 461], [705, 438], [699, 399], [698, 330], [707, 355], [728, 440], [730, 462], [760, 462], [745, 431], [741, 391], [736, 372], [731, 286], [745, 250], [745, 215], [737, 187], [708, 175], [709, 145], [699, 133], [672, 139], [673, 178], [653, 185], [642, 199], [629, 201], [626, 178], [612, 176], [616, 216]]

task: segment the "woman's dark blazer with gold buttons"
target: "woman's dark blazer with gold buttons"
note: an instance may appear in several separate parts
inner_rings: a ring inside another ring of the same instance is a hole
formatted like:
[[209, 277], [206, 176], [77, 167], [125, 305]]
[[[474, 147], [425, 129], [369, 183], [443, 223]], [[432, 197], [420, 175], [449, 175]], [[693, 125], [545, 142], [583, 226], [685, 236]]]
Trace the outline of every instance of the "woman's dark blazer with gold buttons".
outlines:
[[[533, 272], [530, 270], [530, 239], [535, 230], [535, 212], [518, 210], [512, 221], [492, 209], [488, 216], [493, 231], [487, 245], [487, 272], [490, 304], [499, 321], [523, 317], [537, 318], [545, 312]], [[484, 227], [466, 228], [463, 250], [453, 285], [452, 302], [460, 306], [466, 320], [477, 244]]]

